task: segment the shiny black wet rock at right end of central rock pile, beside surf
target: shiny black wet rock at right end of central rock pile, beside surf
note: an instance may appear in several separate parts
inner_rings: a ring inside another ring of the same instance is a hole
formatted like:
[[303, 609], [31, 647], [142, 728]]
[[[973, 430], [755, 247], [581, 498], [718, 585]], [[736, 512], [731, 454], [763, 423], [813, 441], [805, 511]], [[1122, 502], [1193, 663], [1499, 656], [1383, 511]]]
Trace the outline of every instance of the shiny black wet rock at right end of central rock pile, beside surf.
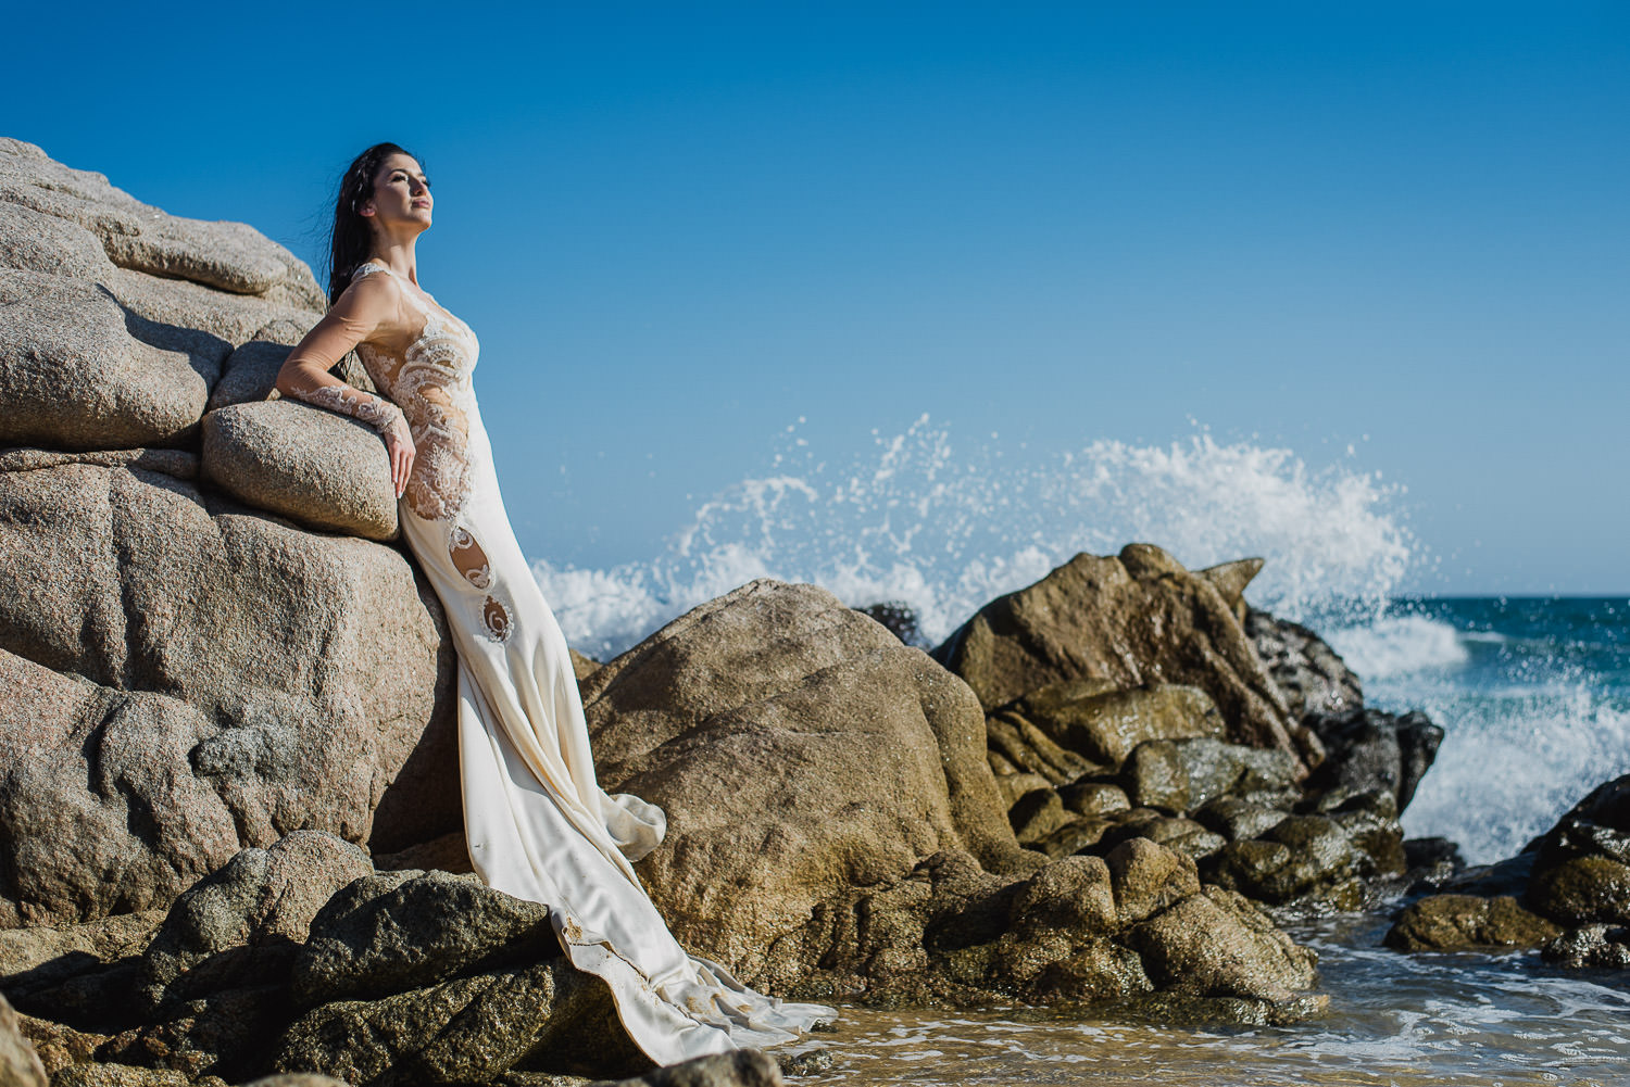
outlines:
[[1307, 779], [1309, 790], [1345, 797], [1386, 789], [1399, 812], [1415, 797], [1443, 743], [1443, 728], [1421, 712], [1350, 709], [1312, 714], [1306, 722], [1325, 746], [1325, 761]]

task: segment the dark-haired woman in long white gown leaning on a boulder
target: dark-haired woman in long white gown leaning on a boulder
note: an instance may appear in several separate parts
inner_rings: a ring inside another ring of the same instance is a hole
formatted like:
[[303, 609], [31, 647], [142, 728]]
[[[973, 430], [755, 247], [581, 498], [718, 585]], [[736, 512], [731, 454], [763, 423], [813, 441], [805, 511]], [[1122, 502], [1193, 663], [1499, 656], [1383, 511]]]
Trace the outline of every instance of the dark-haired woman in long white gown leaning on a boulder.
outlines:
[[[504, 512], [469, 383], [476, 334], [419, 287], [414, 244], [430, 183], [394, 143], [346, 171], [334, 209], [328, 315], [289, 354], [284, 396], [380, 432], [403, 536], [458, 647], [458, 753], [474, 870], [546, 903], [572, 963], [598, 975], [659, 1064], [789, 1041], [835, 1012], [743, 988], [675, 942], [631, 867], [667, 831], [660, 808], [608, 795], [566, 639]], [[355, 349], [390, 399], [329, 373]]]

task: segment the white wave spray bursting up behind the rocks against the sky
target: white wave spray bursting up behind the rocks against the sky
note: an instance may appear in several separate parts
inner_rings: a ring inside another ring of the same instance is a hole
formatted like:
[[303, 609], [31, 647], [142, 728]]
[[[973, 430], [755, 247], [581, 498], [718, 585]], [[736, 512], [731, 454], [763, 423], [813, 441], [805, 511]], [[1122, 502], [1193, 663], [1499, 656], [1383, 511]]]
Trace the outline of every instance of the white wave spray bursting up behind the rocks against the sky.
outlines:
[[924, 416], [854, 456], [789, 433], [769, 471], [703, 502], [663, 549], [611, 569], [533, 570], [567, 639], [615, 654], [755, 577], [843, 601], [910, 605], [939, 640], [991, 598], [1077, 551], [1157, 543], [1188, 567], [1265, 557], [1252, 600], [1296, 616], [1332, 598], [1379, 606], [1410, 569], [1397, 489], [1291, 450], [1200, 430], [1167, 447], [1092, 442], [1056, 456], [958, 448]]

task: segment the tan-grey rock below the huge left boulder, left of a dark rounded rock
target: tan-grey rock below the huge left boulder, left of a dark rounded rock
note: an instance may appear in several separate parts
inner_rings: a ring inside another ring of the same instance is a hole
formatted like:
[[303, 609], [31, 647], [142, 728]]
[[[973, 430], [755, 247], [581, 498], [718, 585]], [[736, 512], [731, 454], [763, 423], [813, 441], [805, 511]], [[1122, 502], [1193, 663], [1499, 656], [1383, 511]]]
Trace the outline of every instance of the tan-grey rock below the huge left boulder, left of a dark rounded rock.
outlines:
[[323, 831], [244, 849], [171, 906], [142, 955], [139, 996], [147, 1010], [244, 979], [287, 976], [324, 903], [372, 874], [362, 849]]

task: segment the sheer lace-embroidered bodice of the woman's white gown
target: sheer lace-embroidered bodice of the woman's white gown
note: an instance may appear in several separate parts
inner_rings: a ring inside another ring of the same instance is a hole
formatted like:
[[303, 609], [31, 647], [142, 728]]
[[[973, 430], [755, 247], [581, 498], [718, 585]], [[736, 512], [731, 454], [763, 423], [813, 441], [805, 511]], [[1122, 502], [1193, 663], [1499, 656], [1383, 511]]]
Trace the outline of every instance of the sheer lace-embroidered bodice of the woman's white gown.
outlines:
[[390, 267], [368, 261], [350, 279], [373, 272], [396, 277], [403, 298], [424, 316], [424, 324], [401, 355], [373, 344], [359, 344], [357, 355], [412, 430], [417, 455], [403, 499], [425, 520], [452, 520], [469, 497], [469, 429], [478, 419], [469, 375], [481, 344], [468, 324]]

